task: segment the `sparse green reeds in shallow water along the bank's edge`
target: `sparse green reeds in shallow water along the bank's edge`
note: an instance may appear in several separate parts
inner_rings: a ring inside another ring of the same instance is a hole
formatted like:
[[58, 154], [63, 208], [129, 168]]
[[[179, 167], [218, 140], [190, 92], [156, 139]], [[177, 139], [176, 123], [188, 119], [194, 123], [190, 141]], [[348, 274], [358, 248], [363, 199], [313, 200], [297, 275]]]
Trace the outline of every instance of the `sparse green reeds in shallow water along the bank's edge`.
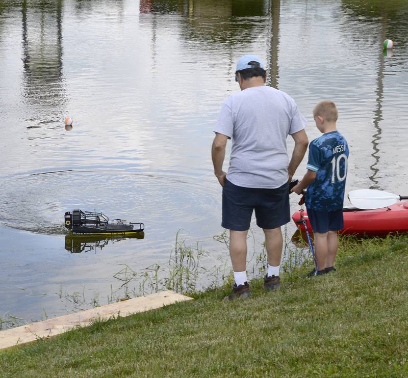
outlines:
[[[208, 288], [216, 288], [230, 284], [233, 279], [232, 267], [228, 255], [229, 237], [227, 230], [212, 237], [216, 242], [221, 243], [222, 249], [217, 248], [218, 257], [214, 258], [211, 252], [205, 251], [200, 241], [193, 245], [186, 244], [186, 237], [182, 235], [180, 229], [175, 236], [174, 247], [170, 252], [167, 263], [161, 265], [155, 263], [143, 269], [133, 268], [128, 264], [117, 264], [117, 271], [105, 295], [100, 291], [86, 288], [79, 285], [78, 290], [67, 290], [60, 286], [58, 292], [42, 293], [40, 295], [56, 295], [65, 307], [66, 313], [48, 315], [45, 309], [36, 319], [27, 320], [14, 316], [6, 312], [0, 315], [0, 331], [28, 323], [46, 320], [55, 316], [67, 315], [73, 312], [88, 310], [94, 307], [109, 305], [126, 299], [138, 296], [157, 293], [163, 290], [173, 290], [177, 293], [185, 294], [199, 292]], [[257, 240], [252, 230], [249, 230], [248, 239], [251, 240], [252, 248], [248, 249], [248, 273], [249, 277], [261, 277], [265, 274], [267, 266], [266, 250], [263, 242]], [[294, 266], [307, 260], [309, 256], [308, 245], [302, 239], [292, 242], [288, 237], [285, 228], [286, 240], [283, 250], [284, 271], [290, 271]], [[208, 261], [208, 259], [210, 261]], [[209, 268], [210, 266], [210, 268]], [[39, 295], [34, 294], [33, 295]]]

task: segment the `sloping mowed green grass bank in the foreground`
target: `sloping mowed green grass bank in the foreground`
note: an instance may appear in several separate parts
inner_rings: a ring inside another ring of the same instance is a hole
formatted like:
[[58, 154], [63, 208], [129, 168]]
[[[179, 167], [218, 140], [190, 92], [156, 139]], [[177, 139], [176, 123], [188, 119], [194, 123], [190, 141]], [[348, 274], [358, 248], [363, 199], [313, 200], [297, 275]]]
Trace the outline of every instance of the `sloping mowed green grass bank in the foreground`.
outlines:
[[334, 274], [251, 282], [0, 352], [0, 376], [408, 376], [408, 237], [344, 239]]

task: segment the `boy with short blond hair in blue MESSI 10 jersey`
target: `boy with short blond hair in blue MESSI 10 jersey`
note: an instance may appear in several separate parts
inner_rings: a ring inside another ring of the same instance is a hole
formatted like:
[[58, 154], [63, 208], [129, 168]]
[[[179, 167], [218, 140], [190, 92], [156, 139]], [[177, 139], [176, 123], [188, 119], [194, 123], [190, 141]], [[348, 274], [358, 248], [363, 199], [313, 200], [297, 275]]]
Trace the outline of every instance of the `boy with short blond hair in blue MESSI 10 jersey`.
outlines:
[[301, 194], [307, 188], [305, 204], [315, 236], [317, 268], [309, 274], [319, 276], [336, 271], [334, 265], [338, 239], [343, 228], [343, 199], [347, 176], [348, 145], [337, 131], [338, 112], [332, 101], [321, 101], [313, 109], [316, 126], [323, 135], [309, 145], [307, 173], [293, 187]]

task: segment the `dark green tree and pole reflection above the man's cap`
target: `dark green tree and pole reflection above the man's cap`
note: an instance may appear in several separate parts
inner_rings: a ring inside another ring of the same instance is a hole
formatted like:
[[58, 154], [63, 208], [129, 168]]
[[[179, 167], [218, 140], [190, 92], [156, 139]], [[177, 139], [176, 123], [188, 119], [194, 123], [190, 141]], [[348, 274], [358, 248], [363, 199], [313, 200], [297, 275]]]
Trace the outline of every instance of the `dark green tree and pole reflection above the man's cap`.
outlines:
[[[253, 51], [254, 41], [267, 44], [269, 66], [268, 85], [277, 87], [280, 0], [141, 0], [139, 11], [148, 18], [152, 29], [152, 54], [156, 58], [156, 28], [158, 13], [177, 13], [184, 41], [201, 50], [212, 49], [213, 62], [219, 59], [215, 51], [227, 52], [231, 70], [233, 53]], [[269, 42], [268, 42], [269, 41]]]

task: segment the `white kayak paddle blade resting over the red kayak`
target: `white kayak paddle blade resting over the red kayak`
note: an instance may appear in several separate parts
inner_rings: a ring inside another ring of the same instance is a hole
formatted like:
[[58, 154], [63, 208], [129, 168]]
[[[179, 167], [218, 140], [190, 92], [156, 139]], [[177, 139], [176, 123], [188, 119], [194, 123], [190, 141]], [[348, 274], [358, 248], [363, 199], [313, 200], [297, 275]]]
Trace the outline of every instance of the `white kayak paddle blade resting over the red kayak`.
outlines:
[[387, 207], [401, 200], [408, 200], [408, 197], [402, 197], [394, 193], [378, 191], [376, 189], [360, 189], [349, 192], [348, 199], [359, 209], [371, 210]]

